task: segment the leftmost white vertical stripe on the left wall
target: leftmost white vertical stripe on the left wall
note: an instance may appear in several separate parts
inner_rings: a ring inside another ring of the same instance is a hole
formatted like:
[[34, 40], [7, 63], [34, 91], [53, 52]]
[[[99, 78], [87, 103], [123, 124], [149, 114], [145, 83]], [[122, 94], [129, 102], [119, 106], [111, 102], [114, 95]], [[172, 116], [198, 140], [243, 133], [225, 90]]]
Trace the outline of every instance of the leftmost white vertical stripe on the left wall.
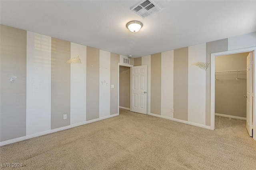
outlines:
[[27, 135], [51, 130], [51, 48], [51, 37], [27, 32]]

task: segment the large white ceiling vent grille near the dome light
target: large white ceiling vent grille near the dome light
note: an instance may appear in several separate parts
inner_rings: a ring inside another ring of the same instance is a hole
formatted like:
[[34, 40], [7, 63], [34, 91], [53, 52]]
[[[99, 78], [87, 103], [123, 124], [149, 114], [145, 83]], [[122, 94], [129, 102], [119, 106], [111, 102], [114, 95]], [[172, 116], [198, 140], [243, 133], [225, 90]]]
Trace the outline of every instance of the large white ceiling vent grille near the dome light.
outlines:
[[161, 8], [152, 0], [146, 0], [140, 4], [137, 4], [130, 8], [133, 12], [141, 16], [142, 18], [146, 18], [161, 10]]

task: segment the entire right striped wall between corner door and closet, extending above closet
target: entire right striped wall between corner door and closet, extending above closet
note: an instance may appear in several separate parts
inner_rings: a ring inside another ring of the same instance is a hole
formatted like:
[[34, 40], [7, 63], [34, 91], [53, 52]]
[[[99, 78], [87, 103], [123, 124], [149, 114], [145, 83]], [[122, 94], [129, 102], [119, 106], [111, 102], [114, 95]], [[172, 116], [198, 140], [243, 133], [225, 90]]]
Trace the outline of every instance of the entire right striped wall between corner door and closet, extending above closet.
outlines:
[[[240, 42], [246, 38], [250, 43], [245, 46]], [[228, 51], [228, 47], [234, 50], [253, 46], [255, 32], [135, 58], [134, 65], [148, 66], [148, 114], [210, 126], [210, 68], [205, 71], [192, 64], [210, 62], [211, 53]], [[163, 95], [161, 88], [166, 93], [170, 90], [173, 96]]]

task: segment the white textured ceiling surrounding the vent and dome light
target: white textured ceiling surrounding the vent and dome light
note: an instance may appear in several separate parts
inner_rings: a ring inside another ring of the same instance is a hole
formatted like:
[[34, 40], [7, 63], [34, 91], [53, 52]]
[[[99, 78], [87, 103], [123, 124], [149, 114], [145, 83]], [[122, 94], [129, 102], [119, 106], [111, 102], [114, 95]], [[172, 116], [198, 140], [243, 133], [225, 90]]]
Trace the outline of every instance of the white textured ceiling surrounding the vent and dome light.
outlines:
[[130, 10], [140, 2], [1, 0], [0, 23], [134, 58], [256, 31], [256, 1], [154, 0], [162, 10], [144, 19]]

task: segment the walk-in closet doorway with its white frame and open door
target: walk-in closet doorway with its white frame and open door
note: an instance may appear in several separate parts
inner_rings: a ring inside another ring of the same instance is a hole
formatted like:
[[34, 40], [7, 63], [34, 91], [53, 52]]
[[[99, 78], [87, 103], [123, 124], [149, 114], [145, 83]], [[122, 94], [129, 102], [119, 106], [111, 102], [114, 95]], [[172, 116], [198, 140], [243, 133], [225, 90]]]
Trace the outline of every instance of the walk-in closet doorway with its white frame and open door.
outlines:
[[[253, 47], [211, 54], [210, 115], [212, 130], [215, 129], [215, 113], [217, 113], [217, 116], [228, 115], [225, 116], [227, 118], [246, 118], [248, 133], [256, 140], [256, 123], [253, 124], [253, 120], [256, 120], [256, 101], [253, 100], [252, 93], [256, 90], [255, 52], [256, 48]], [[232, 55], [230, 56], [230, 54]], [[246, 58], [251, 58], [251, 61], [247, 62], [247, 59], [243, 59], [246, 54]], [[236, 68], [234, 66], [236, 66]], [[248, 70], [250, 70], [250, 72], [248, 72]], [[248, 75], [251, 76], [246, 78]], [[251, 84], [251, 88], [248, 88], [248, 84]], [[246, 90], [244, 87], [246, 87]], [[250, 114], [248, 114], [248, 110], [251, 110]], [[249, 124], [248, 127], [247, 124]]]

